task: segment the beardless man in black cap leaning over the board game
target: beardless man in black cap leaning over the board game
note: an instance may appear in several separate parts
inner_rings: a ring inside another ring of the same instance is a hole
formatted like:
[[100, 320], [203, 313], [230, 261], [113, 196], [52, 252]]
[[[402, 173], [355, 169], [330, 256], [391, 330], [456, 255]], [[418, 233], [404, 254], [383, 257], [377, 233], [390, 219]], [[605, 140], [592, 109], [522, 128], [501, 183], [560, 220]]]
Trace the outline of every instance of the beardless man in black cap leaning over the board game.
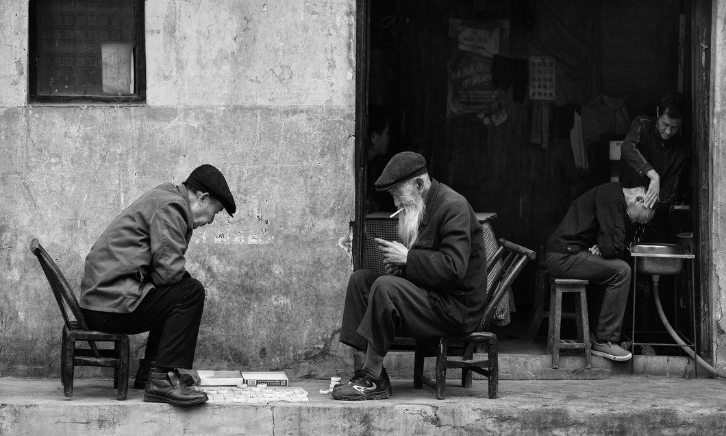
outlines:
[[144, 401], [193, 405], [207, 401], [188, 374], [204, 309], [204, 286], [184, 269], [192, 230], [211, 224], [234, 198], [214, 166], [197, 167], [181, 185], [163, 183], [131, 203], [91, 247], [80, 305], [90, 328], [149, 332], [135, 389]]

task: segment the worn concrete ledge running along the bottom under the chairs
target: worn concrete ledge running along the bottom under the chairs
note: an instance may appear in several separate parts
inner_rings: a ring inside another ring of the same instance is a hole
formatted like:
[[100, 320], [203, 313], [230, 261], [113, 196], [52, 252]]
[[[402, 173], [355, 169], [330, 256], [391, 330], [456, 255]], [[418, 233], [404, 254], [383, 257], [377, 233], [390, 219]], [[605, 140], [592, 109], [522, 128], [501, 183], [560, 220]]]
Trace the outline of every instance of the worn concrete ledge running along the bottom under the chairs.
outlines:
[[393, 380], [388, 400], [341, 402], [319, 395], [326, 380], [293, 385], [309, 403], [208, 403], [192, 408], [143, 403], [131, 389], [115, 400], [110, 379], [81, 379], [74, 397], [58, 380], [0, 379], [3, 435], [723, 435], [726, 382], [613, 377], [607, 380], [449, 383], [446, 400], [411, 380]]

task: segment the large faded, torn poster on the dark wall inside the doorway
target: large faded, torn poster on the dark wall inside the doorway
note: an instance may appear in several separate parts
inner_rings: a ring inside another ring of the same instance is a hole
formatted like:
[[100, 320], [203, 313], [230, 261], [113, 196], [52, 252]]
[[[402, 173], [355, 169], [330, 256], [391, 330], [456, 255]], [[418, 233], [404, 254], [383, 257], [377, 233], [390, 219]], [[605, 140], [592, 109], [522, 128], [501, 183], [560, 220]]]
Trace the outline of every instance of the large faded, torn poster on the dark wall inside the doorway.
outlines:
[[492, 57], [508, 52], [509, 21], [449, 20], [449, 38], [457, 49], [447, 65], [447, 115], [492, 113], [501, 100], [492, 86]]

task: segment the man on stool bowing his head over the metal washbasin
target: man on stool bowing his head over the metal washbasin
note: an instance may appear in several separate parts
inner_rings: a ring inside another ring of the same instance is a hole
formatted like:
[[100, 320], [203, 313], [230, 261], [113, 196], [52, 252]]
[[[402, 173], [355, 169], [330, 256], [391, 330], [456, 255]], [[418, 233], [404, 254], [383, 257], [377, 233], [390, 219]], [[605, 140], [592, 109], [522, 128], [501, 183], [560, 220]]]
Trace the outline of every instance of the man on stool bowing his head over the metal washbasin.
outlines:
[[590, 347], [592, 354], [616, 361], [632, 358], [616, 345], [630, 290], [630, 265], [623, 259], [625, 232], [629, 223], [653, 217], [653, 209], [645, 206], [646, 192], [643, 186], [623, 187], [619, 182], [594, 187], [572, 202], [547, 239], [545, 265], [552, 277], [590, 280], [605, 288]]

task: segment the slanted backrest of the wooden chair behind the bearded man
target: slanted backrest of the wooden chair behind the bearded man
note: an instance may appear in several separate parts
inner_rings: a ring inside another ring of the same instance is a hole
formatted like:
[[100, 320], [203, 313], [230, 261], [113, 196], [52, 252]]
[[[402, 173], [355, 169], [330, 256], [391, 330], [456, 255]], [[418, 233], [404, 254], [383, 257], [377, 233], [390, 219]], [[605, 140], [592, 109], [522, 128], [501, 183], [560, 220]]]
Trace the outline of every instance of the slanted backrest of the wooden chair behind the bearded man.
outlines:
[[507, 293], [507, 288], [512, 286], [515, 278], [524, 269], [524, 265], [536, 258], [537, 254], [534, 251], [505, 239], [499, 239], [499, 249], [486, 261], [486, 271], [489, 275], [487, 282], [491, 283], [486, 293], [490, 298], [486, 302], [478, 331], [489, 328], [494, 319], [494, 313], [497, 311], [497, 305]]

